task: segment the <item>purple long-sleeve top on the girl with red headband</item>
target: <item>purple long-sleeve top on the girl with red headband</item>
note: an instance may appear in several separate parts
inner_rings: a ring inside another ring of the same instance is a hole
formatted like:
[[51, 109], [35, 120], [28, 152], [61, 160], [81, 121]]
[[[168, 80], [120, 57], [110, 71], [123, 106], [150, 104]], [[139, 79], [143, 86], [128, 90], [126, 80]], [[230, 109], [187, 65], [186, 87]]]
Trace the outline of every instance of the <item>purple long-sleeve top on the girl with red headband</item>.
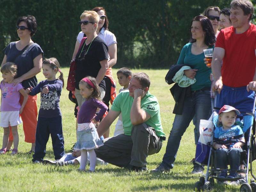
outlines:
[[[94, 117], [97, 108], [100, 108], [100, 112], [96, 117]], [[105, 105], [103, 102], [91, 98], [89, 100], [85, 100], [84, 103], [82, 104], [78, 118], [77, 118], [77, 123], [90, 123], [94, 117], [96, 121], [100, 121], [100, 118], [105, 114], [107, 111], [108, 107]]]

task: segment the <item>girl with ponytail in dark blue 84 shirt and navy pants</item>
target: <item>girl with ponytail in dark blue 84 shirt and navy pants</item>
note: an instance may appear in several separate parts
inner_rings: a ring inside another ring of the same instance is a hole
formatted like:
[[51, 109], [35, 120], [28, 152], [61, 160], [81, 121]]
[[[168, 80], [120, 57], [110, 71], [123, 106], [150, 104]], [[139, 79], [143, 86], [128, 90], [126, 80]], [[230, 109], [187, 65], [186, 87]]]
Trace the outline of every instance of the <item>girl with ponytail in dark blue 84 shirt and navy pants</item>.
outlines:
[[[55, 160], [64, 155], [62, 117], [59, 105], [61, 90], [64, 86], [63, 73], [56, 58], [45, 59], [42, 68], [46, 80], [41, 81], [35, 88], [26, 90], [29, 95], [41, 93], [41, 105], [36, 126], [36, 148], [32, 159], [34, 163], [43, 161], [50, 134]], [[56, 78], [58, 72], [60, 76]]]

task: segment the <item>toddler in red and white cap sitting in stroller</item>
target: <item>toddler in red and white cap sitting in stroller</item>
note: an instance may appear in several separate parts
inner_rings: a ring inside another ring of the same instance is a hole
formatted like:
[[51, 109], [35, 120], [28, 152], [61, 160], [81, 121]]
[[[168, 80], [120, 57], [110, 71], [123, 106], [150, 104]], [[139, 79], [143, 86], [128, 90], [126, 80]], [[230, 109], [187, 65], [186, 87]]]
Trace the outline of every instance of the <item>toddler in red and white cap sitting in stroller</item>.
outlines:
[[240, 166], [240, 153], [243, 151], [245, 139], [241, 127], [234, 125], [236, 115], [240, 115], [240, 112], [228, 105], [224, 105], [219, 111], [218, 119], [222, 126], [215, 128], [213, 139], [213, 148], [216, 149], [215, 167], [222, 169], [219, 178], [236, 178]]

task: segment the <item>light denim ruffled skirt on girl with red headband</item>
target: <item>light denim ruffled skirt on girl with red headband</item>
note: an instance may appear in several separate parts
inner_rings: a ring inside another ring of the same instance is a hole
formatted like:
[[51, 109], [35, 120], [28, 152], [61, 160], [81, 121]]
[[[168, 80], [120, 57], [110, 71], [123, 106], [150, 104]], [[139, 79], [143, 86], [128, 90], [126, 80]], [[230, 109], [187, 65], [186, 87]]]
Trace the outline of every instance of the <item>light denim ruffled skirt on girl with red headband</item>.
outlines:
[[103, 145], [102, 140], [100, 140], [98, 132], [91, 123], [77, 124], [77, 142], [74, 150], [90, 150], [99, 148]]

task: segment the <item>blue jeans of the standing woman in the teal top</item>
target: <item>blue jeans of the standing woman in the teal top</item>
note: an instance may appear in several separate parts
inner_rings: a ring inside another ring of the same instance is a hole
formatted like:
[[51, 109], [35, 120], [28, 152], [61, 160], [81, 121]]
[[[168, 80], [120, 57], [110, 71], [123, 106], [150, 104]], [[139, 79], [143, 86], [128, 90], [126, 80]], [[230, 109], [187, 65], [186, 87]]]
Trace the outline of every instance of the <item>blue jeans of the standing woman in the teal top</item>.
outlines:
[[175, 115], [172, 124], [172, 130], [167, 142], [166, 151], [163, 157], [162, 165], [165, 168], [172, 169], [175, 161], [177, 151], [180, 146], [180, 140], [184, 132], [189, 126], [189, 123], [196, 115], [196, 143], [199, 139], [199, 123], [200, 119], [208, 119], [211, 111], [211, 97], [210, 91], [196, 91], [192, 92], [191, 97], [184, 100], [182, 115]]

